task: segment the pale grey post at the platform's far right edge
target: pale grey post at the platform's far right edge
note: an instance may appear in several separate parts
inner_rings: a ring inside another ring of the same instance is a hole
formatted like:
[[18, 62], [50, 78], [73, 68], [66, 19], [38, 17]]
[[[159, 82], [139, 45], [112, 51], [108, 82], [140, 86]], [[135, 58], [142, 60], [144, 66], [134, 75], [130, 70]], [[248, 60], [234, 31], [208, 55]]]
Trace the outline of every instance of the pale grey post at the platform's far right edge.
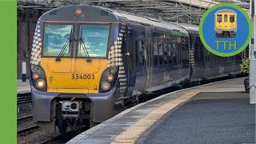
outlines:
[[256, 103], [256, 15], [255, 0], [250, 0], [250, 18], [253, 23], [253, 37], [250, 42], [250, 104]]

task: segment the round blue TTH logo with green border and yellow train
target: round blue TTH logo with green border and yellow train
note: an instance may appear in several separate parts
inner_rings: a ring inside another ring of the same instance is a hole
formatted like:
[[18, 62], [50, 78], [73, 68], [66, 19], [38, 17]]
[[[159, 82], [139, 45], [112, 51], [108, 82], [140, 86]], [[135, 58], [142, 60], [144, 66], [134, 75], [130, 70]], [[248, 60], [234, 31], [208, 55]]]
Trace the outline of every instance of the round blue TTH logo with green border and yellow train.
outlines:
[[202, 15], [199, 35], [211, 53], [230, 57], [246, 49], [252, 37], [252, 22], [241, 7], [231, 3], [212, 6]]

